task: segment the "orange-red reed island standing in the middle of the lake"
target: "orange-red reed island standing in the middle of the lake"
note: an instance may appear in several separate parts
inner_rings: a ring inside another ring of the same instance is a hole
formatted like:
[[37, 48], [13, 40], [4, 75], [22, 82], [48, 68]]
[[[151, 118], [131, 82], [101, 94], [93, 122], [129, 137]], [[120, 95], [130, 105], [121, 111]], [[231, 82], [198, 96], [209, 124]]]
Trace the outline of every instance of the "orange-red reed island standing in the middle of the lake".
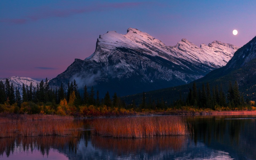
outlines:
[[91, 128], [93, 134], [113, 138], [191, 134], [186, 121], [178, 116], [99, 118], [91, 123]]

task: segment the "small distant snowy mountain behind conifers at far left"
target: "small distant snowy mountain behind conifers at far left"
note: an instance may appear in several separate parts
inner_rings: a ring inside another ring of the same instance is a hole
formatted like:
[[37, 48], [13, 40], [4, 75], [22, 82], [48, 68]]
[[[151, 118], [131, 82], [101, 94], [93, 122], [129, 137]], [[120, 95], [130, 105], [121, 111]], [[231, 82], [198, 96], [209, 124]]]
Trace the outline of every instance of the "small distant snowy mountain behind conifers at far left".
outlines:
[[[7, 78], [11, 83], [13, 83], [14, 89], [17, 87], [19, 90], [22, 90], [22, 84], [24, 83], [24, 85], [30, 85], [30, 83], [32, 82], [33, 86], [37, 86], [37, 84], [39, 84], [40, 82], [28, 78], [28, 77], [17, 77], [17, 76], [13, 76], [13, 77], [9, 77]], [[0, 78], [0, 81], [2, 81], [3, 83], [5, 83], [6, 78]]]

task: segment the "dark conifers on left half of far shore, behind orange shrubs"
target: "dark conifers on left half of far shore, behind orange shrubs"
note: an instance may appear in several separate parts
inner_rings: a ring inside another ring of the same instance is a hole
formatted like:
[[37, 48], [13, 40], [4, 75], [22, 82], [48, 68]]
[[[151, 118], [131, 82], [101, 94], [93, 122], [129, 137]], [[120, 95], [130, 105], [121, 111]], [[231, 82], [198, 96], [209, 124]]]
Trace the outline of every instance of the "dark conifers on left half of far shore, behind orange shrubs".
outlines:
[[10, 105], [17, 103], [20, 107], [22, 102], [33, 102], [33, 103], [51, 103], [53, 105], [59, 104], [61, 100], [65, 99], [67, 103], [69, 101], [74, 101], [74, 106], [80, 105], [106, 105], [108, 107], [125, 107], [125, 102], [121, 101], [120, 97], [114, 93], [113, 97], [110, 98], [109, 92], [106, 93], [104, 99], [99, 98], [99, 91], [96, 92], [95, 99], [95, 91], [94, 88], [91, 87], [90, 91], [88, 91], [87, 86], [85, 85], [83, 88], [83, 94], [79, 93], [78, 84], [75, 81], [71, 81], [71, 83], [67, 84], [67, 91], [63, 89], [63, 84], [59, 88], [52, 89], [49, 87], [48, 79], [45, 81], [41, 81], [37, 86], [33, 86], [32, 82], [30, 85], [25, 85], [23, 83], [21, 93], [17, 89], [14, 89], [13, 83], [11, 83], [8, 79], [6, 79], [5, 83], [0, 81], [0, 104], [4, 104], [8, 101]]

